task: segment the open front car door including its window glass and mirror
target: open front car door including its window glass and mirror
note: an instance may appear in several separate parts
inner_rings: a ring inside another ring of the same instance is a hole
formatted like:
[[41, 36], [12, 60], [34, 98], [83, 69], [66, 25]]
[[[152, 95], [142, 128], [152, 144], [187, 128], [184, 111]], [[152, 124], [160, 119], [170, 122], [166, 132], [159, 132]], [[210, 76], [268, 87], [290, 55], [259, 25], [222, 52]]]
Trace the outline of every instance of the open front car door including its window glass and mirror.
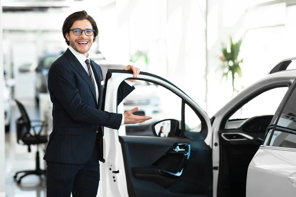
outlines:
[[[126, 79], [134, 79], [131, 71], [108, 70], [104, 110], [115, 113], [128, 110], [127, 102], [124, 110], [116, 104], [118, 87]], [[141, 72], [137, 80], [146, 85], [136, 87], [135, 94], [142, 91], [142, 99], [133, 103], [138, 105], [139, 115], [152, 119], [146, 131], [138, 132], [138, 136], [135, 132], [130, 134], [134, 136], [118, 135], [117, 130], [104, 128], [105, 163], [101, 164], [99, 194], [103, 197], [212, 196], [209, 117], [169, 81], [146, 72]], [[132, 100], [134, 91], [126, 99]], [[146, 109], [141, 111], [142, 108]]]

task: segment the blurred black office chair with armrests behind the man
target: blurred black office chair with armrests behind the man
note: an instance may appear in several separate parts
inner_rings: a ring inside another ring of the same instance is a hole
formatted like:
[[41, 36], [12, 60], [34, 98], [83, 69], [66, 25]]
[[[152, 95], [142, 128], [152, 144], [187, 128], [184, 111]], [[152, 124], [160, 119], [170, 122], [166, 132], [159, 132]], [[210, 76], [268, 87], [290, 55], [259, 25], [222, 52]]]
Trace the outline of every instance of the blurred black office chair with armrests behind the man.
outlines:
[[[42, 174], [46, 175], [46, 170], [40, 169], [40, 162], [39, 162], [39, 151], [38, 145], [47, 142], [47, 135], [40, 135], [43, 127], [46, 126], [44, 122], [39, 120], [30, 120], [27, 114], [27, 111], [22, 103], [15, 99], [15, 102], [21, 112], [21, 117], [16, 120], [16, 136], [17, 136], [17, 143], [20, 144], [20, 140], [23, 142], [23, 145], [28, 146], [28, 152], [31, 152], [31, 145], [37, 145], [37, 152], [36, 152], [36, 169], [35, 170], [22, 170], [15, 173], [13, 176], [14, 180], [20, 184], [21, 179], [30, 174], [36, 174], [41, 176]], [[37, 122], [38, 125], [32, 126], [31, 123]], [[38, 131], [36, 128], [40, 128]], [[34, 131], [32, 134], [30, 131], [31, 129]], [[24, 173], [18, 180], [17, 175], [19, 173]]]

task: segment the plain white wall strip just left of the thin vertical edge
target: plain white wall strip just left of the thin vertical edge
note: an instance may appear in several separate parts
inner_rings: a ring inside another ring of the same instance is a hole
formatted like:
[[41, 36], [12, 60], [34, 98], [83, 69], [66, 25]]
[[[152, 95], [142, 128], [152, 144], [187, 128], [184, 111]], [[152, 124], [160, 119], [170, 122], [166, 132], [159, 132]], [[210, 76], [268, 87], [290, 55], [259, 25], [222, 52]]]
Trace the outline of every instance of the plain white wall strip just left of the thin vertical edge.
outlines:
[[167, 1], [167, 78], [204, 110], [205, 105], [205, 0]]

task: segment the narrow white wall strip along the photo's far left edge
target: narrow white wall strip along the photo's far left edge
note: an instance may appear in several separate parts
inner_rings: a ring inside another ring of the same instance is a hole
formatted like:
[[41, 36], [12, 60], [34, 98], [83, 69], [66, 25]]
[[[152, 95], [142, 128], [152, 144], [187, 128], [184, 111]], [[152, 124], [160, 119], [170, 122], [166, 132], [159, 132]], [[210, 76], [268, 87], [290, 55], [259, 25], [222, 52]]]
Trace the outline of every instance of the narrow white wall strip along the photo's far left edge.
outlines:
[[[2, 7], [0, 0], [0, 18], [2, 18]], [[2, 23], [0, 21], [0, 46], [2, 46]], [[3, 58], [2, 47], [0, 47], [0, 93], [3, 92]], [[0, 197], [5, 197], [5, 131], [4, 131], [4, 109], [3, 98], [0, 97]]]

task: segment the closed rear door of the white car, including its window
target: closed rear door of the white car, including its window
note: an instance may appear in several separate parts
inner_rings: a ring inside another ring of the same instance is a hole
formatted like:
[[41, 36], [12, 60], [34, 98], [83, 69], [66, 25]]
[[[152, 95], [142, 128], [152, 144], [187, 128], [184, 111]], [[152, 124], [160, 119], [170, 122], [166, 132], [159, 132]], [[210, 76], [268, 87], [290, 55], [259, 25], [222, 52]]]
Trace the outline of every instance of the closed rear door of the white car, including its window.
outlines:
[[[286, 60], [288, 65], [290, 60]], [[263, 144], [249, 165], [246, 193], [247, 197], [296, 196], [296, 81], [279, 105]]]

